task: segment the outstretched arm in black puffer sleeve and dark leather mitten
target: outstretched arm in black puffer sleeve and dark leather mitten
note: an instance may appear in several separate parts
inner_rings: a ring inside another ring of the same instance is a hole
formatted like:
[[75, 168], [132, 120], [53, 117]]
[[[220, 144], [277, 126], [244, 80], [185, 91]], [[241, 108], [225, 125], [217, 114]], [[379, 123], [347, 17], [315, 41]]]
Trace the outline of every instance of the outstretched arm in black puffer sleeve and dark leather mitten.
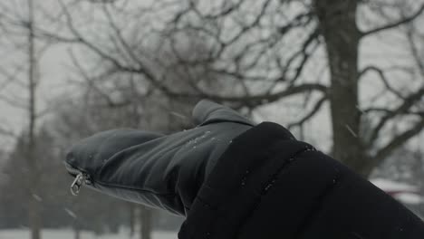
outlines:
[[[185, 211], [178, 233], [184, 239], [424, 238], [416, 215], [283, 127], [252, 127], [208, 101], [197, 109], [236, 120], [218, 117], [196, 134], [184, 131], [174, 138], [132, 130], [101, 133], [72, 148], [68, 168], [72, 175], [84, 172], [87, 183], [112, 196]], [[217, 141], [204, 137], [207, 131], [226, 146], [213, 146]], [[202, 150], [188, 153], [196, 150], [190, 142], [200, 139]]]

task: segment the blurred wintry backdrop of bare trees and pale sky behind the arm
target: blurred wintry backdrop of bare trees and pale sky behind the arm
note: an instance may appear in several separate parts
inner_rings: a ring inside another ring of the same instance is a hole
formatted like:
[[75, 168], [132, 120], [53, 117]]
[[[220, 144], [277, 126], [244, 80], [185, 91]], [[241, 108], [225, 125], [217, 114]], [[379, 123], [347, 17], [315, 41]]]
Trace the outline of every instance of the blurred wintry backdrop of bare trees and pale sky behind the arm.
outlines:
[[0, 184], [11, 193], [0, 210], [14, 215], [0, 226], [31, 225], [38, 238], [42, 217], [99, 233], [143, 218], [149, 238], [165, 217], [93, 192], [71, 198], [61, 160], [100, 130], [193, 127], [202, 98], [279, 122], [364, 177], [403, 168], [414, 173], [394, 179], [417, 181], [423, 12], [412, 0], [2, 1]]

